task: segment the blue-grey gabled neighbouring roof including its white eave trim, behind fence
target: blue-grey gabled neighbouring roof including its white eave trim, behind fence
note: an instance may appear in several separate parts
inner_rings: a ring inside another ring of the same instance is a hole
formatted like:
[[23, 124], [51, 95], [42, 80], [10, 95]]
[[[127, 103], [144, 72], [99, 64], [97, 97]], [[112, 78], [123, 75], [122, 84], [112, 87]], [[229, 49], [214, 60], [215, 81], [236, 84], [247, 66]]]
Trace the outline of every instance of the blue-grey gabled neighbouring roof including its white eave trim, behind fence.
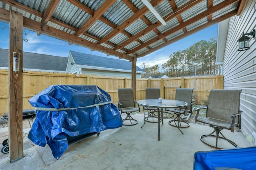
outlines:
[[[132, 72], [132, 63], [130, 61], [121, 59], [112, 59], [108, 57], [100, 57], [96, 55], [90, 55], [85, 53], [78, 53], [76, 51], [70, 51], [71, 56], [74, 59], [76, 67], [94, 69], [94, 70], [109, 70], [120, 72]], [[70, 55], [69, 55], [70, 57]], [[70, 64], [67, 65], [67, 72], [70, 69]], [[141, 68], [136, 67], [137, 73], [145, 74]]]

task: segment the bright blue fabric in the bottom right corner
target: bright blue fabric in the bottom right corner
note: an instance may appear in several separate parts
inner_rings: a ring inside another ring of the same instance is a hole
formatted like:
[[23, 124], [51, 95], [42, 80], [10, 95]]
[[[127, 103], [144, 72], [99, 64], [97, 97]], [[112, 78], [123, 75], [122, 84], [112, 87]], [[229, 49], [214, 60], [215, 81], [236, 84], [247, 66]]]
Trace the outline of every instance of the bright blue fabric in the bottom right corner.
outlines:
[[194, 154], [194, 170], [256, 170], [256, 147], [200, 151]]

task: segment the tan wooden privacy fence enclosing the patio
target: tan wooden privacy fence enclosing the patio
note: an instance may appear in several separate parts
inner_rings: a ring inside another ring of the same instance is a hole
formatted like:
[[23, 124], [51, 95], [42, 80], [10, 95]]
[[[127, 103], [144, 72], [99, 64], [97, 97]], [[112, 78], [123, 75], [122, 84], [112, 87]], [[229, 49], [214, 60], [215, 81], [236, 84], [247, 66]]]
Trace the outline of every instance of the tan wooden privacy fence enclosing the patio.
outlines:
[[[54, 72], [23, 72], [23, 109], [30, 109], [28, 99], [45, 88], [56, 84], [96, 85], [110, 94], [112, 102], [117, 104], [118, 88], [131, 88], [131, 78], [115, 76], [94, 76], [80, 74], [54, 73]], [[144, 99], [147, 87], [160, 88], [163, 99], [174, 99], [178, 87], [194, 88], [196, 104], [207, 100], [211, 89], [223, 89], [223, 76], [196, 76], [178, 78], [137, 78], [136, 100]], [[9, 77], [8, 70], [0, 70], [0, 115], [9, 110]]]

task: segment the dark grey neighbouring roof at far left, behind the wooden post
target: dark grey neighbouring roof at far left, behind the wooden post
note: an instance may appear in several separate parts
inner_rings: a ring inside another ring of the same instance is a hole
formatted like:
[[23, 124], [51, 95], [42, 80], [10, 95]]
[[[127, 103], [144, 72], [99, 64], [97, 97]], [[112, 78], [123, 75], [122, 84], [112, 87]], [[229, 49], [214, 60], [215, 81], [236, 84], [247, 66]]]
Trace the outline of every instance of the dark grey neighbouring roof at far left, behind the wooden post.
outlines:
[[[68, 57], [23, 52], [23, 70], [65, 72]], [[0, 68], [8, 69], [9, 50], [0, 49]]]

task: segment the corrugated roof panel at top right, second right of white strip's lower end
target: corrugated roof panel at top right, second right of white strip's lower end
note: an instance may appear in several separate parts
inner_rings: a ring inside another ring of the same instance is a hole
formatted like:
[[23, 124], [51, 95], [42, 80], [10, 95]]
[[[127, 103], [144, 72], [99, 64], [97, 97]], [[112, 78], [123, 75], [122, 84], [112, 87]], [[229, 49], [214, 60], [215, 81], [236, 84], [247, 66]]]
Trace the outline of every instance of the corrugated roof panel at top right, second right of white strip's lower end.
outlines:
[[207, 0], [200, 2], [197, 6], [190, 8], [186, 12], [181, 14], [182, 20], [185, 22], [194, 16], [204, 12], [207, 10]]

